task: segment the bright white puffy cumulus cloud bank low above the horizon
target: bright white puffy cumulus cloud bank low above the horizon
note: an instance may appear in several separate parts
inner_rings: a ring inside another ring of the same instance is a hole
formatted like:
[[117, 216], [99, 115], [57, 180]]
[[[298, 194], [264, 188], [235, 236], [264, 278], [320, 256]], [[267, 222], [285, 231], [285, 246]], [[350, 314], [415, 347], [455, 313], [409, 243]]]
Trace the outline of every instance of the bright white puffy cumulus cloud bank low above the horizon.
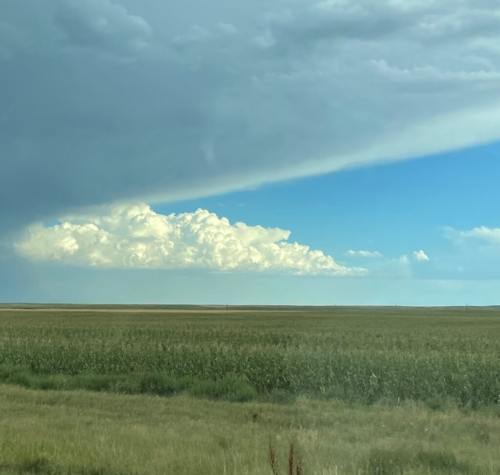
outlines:
[[157, 214], [147, 204], [30, 226], [15, 244], [29, 259], [118, 268], [208, 268], [297, 274], [361, 275], [320, 250], [287, 242], [290, 231], [229, 223], [205, 209]]

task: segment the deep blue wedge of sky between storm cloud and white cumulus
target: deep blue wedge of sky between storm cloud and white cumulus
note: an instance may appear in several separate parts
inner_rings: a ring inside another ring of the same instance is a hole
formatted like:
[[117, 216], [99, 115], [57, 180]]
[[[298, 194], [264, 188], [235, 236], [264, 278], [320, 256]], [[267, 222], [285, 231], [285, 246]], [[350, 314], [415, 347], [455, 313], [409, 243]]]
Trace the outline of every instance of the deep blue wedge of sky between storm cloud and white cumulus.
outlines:
[[442, 228], [496, 227], [500, 144], [294, 179], [254, 190], [158, 203], [157, 212], [206, 208], [230, 221], [292, 230], [331, 255], [374, 249], [399, 256], [446, 252]]

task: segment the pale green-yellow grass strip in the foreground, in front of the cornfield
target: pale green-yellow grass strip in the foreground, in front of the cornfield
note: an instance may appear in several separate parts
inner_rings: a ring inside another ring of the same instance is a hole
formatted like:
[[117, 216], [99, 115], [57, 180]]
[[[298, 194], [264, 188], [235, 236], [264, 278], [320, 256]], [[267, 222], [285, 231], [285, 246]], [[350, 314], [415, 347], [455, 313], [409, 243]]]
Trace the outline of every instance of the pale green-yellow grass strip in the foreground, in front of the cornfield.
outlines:
[[0, 473], [285, 473], [291, 441], [306, 475], [500, 473], [500, 418], [419, 404], [231, 403], [0, 384]]

